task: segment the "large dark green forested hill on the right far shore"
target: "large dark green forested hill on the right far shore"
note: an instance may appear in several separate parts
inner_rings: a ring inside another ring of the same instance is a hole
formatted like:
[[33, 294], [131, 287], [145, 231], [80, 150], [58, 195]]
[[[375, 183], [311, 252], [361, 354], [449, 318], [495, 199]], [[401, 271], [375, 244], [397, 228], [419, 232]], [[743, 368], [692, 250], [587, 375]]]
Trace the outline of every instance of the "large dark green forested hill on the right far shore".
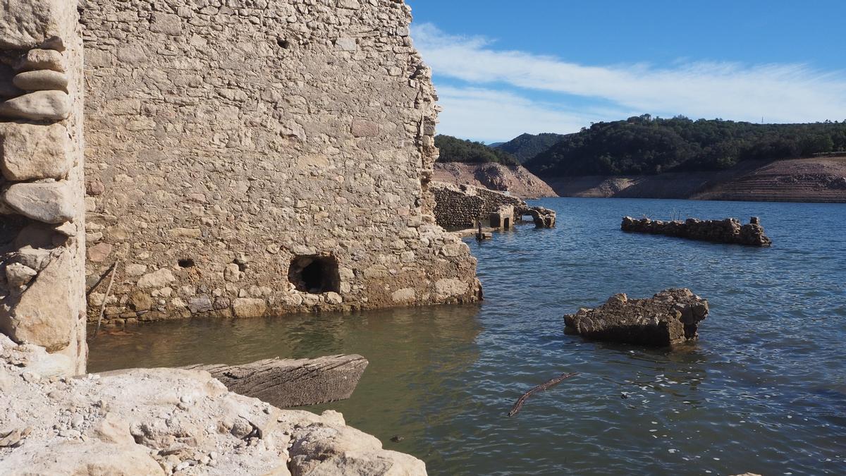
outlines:
[[660, 174], [843, 150], [846, 121], [759, 125], [681, 116], [653, 119], [645, 114], [563, 136], [524, 165], [541, 177]]

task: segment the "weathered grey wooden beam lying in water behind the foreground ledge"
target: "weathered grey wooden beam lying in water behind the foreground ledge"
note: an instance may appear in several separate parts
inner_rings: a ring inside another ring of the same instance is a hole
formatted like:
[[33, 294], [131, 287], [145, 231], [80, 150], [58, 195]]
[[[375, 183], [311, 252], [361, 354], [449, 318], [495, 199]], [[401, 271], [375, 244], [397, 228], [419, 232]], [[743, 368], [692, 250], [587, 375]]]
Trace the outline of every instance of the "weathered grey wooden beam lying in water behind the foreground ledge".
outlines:
[[302, 407], [346, 400], [367, 368], [360, 355], [312, 359], [266, 359], [243, 365], [199, 364], [184, 367], [205, 370], [230, 391], [266, 401], [274, 407]]

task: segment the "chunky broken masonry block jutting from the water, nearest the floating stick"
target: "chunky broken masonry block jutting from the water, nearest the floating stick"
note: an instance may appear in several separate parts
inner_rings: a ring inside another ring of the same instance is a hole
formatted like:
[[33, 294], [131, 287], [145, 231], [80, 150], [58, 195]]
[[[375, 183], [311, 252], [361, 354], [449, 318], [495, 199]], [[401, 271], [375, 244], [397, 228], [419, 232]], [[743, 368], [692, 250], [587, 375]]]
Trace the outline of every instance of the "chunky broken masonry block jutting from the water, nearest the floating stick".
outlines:
[[689, 289], [668, 289], [649, 299], [612, 296], [600, 307], [564, 316], [569, 334], [640, 346], [672, 346], [698, 337], [708, 302]]

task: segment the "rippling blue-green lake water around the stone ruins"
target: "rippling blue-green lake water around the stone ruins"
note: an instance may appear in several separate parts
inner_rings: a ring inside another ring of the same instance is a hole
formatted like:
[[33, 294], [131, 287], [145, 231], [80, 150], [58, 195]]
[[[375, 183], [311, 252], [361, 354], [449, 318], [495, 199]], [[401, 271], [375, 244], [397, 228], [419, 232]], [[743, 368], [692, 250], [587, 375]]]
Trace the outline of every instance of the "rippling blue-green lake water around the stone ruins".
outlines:
[[[430, 474], [846, 473], [846, 204], [558, 198], [558, 228], [468, 241], [481, 306], [148, 324], [91, 342], [91, 371], [360, 353], [321, 407]], [[772, 248], [619, 231], [623, 215], [760, 216]], [[563, 334], [608, 296], [711, 303], [676, 351]], [[532, 386], [573, 379], [506, 413]], [[627, 396], [627, 398], [623, 398]], [[403, 440], [390, 441], [399, 435]]]

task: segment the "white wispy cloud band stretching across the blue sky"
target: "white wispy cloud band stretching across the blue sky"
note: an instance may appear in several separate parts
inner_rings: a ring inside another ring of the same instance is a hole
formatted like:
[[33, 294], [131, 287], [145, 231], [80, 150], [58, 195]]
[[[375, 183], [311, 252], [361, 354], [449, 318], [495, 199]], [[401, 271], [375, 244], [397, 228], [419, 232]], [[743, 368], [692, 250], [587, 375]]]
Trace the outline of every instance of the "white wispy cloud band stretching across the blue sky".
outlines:
[[[470, 128], [463, 119], [480, 114], [453, 111], [450, 107], [481, 105], [482, 97], [493, 99], [493, 93], [481, 94], [478, 88], [499, 89], [502, 112], [484, 102], [484, 116], [491, 123], [507, 130], [530, 129], [546, 117], [552, 123], [578, 130], [573, 121], [597, 118], [596, 111], [575, 111], [549, 103], [532, 102], [520, 97], [519, 90], [547, 91], [595, 99], [612, 104], [610, 111], [632, 111], [672, 116], [684, 114], [693, 118], [723, 118], [767, 122], [812, 122], [823, 119], [846, 119], [846, 72], [820, 71], [805, 64], [737, 64], [719, 62], [678, 62], [672, 67], [658, 68], [650, 64], [588, 66], [521, 51], [497, 49], [486, 38], [454, 36], [435, 25], [417, 25], [413, 35], [427, 64], [439, 77], [467, 83], [466, 95], [458, 89], [446, 91], [442, 130]], [[504, 85], [504, 86], [503, 86]], [[504, 89], [507, 91], [503, 91]], [[443, 88], [441, 88], [441, 91]], [[442, 91], [443, 93], [444, 91]], [[566, 103], [567, 98], [562, 102]], [[584, 102], [584, 101], [581, 101]], [[560, 109], [564, 109], [563, 111]], [[504, 127], [508, 115], [518, 113], [512, 121], [525, 117], [530, 122], [521, 128]], [[535, 120], [531, 120], [535, 118]], [[597, 119], [623, 119], [605, 116]], [[591, 119], [596, 120], [596, 119]], [[581, 123], [578, 126], [586, 125]], [[508, 138], [508, 136], [506, 136]]]

